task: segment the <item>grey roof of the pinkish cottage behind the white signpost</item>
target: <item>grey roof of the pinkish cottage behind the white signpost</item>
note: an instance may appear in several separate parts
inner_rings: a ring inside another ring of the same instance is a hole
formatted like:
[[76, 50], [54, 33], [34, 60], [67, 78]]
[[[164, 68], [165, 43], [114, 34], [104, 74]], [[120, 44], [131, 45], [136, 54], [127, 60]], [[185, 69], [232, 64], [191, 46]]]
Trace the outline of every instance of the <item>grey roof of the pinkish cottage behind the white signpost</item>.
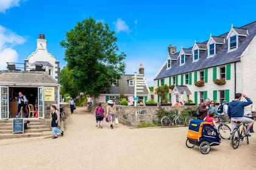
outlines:
[[[118, 86], [110, 87], [110, 94], [130, 94], [134, 95], [134, 86], [129, 86], [129, 80], [132, 80], [134, 75], [122, 75], [118, 81]], [[142, 80], [142, 79], [141, 79]], [[137, 92], [137, 95], [148, 95], [149, 91], [146, 86], [143, 86], [143, 92]]]

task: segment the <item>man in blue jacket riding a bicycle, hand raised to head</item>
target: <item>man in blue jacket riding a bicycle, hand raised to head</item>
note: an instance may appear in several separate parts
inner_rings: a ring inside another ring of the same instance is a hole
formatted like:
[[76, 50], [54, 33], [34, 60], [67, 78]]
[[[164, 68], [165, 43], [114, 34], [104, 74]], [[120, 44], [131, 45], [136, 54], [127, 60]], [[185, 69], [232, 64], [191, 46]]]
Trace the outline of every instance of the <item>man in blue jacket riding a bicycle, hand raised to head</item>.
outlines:
[[[244, 97], [247, 101], [240, 101], [241, 97]], [[245, 135], [251, 136], [248, 132], [249, 129], [254, 124], [254, 120], [251, 120], [250, 118], [244, 117], [244, 106], [248, 106], [252, 104], [252, 101], [249, 97], [247, 97], [245, 94], [235, 94], [235, 100], [231, 101], [229, 103], [229, 107], [227, 109], [227, 115], [229, 115], [232, 129], [236, 127], [235, 121], [240, 121], [245, 124], [247, 124], [246, 133]]]

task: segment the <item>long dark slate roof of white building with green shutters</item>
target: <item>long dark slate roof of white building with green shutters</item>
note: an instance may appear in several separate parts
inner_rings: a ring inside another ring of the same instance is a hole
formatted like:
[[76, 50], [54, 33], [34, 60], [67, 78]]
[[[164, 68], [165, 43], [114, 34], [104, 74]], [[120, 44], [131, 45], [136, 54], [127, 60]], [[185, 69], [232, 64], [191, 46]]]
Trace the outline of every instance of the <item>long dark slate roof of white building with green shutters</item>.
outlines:
[[[207, 58], [208, 52], [207, 50], [205, 50], [203, 55], [199, 56], [199, 61], [194, 63], [192, 63], [193, 56], [186, 58], [186, 63], [183, 66], [180, 66], [179, 60], [171, 61], [171, 68], [166, 69], [166, 67], [163, 67], [162, 70], [160, 70], [158, 75], [155, 77], [155, 80], [165, 77], [171, 77], [174, 75], [180, 75], [181, 73], [188, 73], [196, 70], [202, 70], [210, 67], [221, 66], [224, 64], [235, 63], [236, 61], [241, 61], [241, 55], [256, 35], [256, 21], [252, 22], [251, 24], [244, 25], [243, 27], [240, 27], [240, 29], [246, 29], [249, 35], [243, 38], [239, 38], [240, 41], [238, 42], [238, 49], [232, 52], [227, 52], [228, 41], [226, 41], [225, 44], [216, 46], [217, 53], [213, 57]], [[221, 37], [226, 38], [227, 35], [228, 32], [221, 35]]]

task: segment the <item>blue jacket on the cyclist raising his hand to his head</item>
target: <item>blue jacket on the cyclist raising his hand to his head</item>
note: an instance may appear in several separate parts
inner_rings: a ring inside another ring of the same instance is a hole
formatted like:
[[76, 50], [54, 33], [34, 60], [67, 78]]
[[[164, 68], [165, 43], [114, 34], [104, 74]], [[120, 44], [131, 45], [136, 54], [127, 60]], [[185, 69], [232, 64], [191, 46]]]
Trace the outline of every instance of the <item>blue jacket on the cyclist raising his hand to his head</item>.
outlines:
[[229, 115], [229, 118], [244, 117], [244, 106], [252, 104], [249, 97], [246, 97], [246, 100], [247, 101], [233, 100], [229, 103], [229, 107], [227, 108], [227, 115]]

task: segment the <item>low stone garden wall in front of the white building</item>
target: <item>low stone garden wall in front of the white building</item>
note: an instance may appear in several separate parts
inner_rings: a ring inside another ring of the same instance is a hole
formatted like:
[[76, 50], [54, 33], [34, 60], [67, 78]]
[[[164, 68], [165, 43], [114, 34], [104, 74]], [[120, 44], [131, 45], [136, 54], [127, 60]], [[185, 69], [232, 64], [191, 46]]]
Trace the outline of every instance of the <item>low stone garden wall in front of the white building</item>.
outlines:
[[[104, 109], [106, 109], [106, 105], [104, 106]], [[169, 112], [171, 110], [178, 110], [179, 114], [181, 110], [187, 108], [187, 106], [160, 106], [162, 107], [166, 112]], [[132, 106], [121, 106], [116, 105], [116, 111], [118, 113], [118, 121], [119, 123], [125, 124], [127, 126], [135, 126], [137, 127], [142, 122], [147, 123], [157, 123], [158, 117], [157, 117], [157, 110], [160, 108], [157, 106], [138, 106], [138, 107], [132, 107]]]

